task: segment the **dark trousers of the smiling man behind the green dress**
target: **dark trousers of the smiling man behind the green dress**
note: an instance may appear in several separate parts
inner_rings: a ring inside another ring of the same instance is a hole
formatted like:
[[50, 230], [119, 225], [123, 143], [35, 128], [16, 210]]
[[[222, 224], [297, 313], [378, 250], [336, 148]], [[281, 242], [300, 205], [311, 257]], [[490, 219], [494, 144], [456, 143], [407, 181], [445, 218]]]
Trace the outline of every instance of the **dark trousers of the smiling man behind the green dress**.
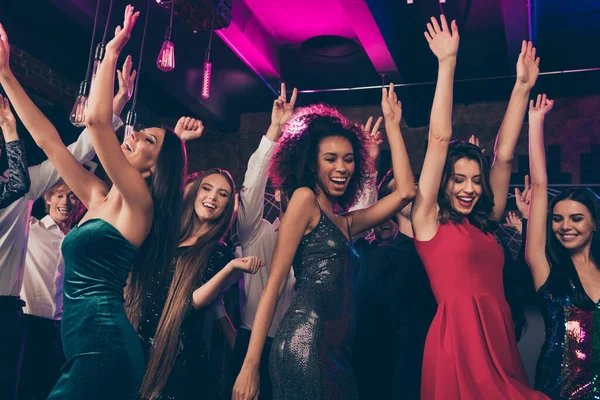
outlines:
[[60, 369], [64, 363], [60, 321], [25, 314], [25, 351], [19, 399], [48, 398], [60, 378]]

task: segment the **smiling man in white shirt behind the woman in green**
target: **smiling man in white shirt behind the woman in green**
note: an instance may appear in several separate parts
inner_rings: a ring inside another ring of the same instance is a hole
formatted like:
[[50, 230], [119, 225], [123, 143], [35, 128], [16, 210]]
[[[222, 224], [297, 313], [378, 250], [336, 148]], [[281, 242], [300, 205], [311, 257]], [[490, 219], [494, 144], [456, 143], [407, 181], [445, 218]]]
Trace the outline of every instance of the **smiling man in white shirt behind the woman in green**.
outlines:
[[31, 217], [21, 298], [26, 305], [19, 398], [45, 399], [65, 362], [60, 339], [65, 262], [61, 245], [81, 202], [64, 183], [44, 194], [46, 215]]

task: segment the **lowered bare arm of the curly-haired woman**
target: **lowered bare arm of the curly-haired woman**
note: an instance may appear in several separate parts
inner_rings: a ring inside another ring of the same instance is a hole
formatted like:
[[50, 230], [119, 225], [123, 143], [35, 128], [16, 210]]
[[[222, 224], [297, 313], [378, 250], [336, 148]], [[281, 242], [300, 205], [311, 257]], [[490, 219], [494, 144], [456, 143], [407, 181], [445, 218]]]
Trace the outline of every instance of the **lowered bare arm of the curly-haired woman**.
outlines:
[[315, 194], [305, 187], [296, 190], [279, 226], [269, 279], [260, 296], [248, 352], [233, 388], [233, 400], [258, 399], [260, 357], [273, 314], [300, 240], [309, 226], [316, 226], [319, 215]]

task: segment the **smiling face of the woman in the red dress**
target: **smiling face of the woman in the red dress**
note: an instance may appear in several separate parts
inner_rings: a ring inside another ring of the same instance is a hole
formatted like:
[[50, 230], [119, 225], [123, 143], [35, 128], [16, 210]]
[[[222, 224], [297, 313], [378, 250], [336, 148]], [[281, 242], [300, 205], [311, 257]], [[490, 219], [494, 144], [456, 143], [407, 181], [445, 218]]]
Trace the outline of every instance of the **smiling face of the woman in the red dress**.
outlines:
[[481, 197], [481, 167], [475, 160], [461, 158], [454, 163], [454, 174], [448, 179], [446, 197], [452, 208], [468, 215]]

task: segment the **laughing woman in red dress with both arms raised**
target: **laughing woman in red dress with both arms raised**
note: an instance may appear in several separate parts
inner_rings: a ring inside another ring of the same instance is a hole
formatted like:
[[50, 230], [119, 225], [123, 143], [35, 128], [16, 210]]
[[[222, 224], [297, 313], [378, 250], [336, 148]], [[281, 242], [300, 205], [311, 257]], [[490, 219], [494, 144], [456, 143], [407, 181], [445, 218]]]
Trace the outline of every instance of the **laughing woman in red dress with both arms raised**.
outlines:
[[440, 23], [431, 18], [427, 30], [438, 80], [412, 223], [438, 310], [425, 343], [421, 398], [546, 399], [527, 383], [504, 298], [503, 251], [494, 236], [539, 59], [523, 42], [490, 168], [477, 146], [450, 142], [456, 22], [449, 27], [443, 15]]

